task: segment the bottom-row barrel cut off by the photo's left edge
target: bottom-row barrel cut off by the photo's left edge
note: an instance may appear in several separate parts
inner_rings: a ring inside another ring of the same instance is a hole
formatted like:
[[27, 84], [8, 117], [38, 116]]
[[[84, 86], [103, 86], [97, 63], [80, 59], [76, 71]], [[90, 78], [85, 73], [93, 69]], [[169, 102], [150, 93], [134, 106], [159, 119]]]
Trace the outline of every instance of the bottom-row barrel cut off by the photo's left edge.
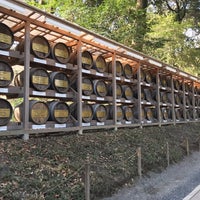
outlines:
[[9, 101], [0, 98], [0, 126], [7, 125], [12, 118], [12, 106]]

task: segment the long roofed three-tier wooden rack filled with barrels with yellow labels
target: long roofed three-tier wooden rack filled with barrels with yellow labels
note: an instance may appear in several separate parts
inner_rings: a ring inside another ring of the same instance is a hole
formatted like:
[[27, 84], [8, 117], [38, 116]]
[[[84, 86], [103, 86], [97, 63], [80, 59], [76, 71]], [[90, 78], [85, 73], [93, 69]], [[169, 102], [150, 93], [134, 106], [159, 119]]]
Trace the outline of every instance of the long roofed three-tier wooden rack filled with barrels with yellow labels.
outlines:
[[0, 9], [0, 135], [200, 121], [199, 77], [9, 1]]

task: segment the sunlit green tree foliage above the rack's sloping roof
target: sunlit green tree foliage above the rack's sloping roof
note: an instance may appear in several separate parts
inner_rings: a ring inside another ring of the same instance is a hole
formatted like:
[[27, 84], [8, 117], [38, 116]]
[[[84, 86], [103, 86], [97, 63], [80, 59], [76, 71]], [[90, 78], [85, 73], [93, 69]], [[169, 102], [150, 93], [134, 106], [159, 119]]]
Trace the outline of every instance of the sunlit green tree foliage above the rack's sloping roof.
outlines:
[[199, 0], [26, 1], [189, 73], [200, 73]]

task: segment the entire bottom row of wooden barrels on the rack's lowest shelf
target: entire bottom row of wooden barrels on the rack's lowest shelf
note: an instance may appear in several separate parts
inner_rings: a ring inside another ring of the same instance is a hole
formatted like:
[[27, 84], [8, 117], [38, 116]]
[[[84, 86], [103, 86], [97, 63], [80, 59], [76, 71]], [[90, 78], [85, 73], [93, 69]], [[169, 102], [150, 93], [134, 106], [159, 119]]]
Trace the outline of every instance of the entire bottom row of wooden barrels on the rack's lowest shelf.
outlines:
[[[17, 122], [23, 122], [23, 103], [14, 108], [14, 118]], [[140, 113], [137, 107], [128, 105], [118, 105], [116, 108], [117, 121], [123, 120], [133, 122], [139, 119]], [[7, 125], [13, 115], [13, 108], [9, 101], [0, 99], [0, 126]], [[163, 107], [160, 109], [160, 115], [156, 107], [142, 107], [141, 120], [153, 121], [173, 119], [173, 112], [171, 108]], [[77, 104], [68, 105], [63, 101], [49, 101], [43, 102], [39, 100], [29, 101], [29, 121], [34, 124], [45, 124], [47, 121], [54, 121], [56, 123], [64, 124], [70, 118], [78, 120]], [[200, 117], [200, 110], [187, 109], [186, 119], [193, 119]], [[106, 122], [114, 118], [114, 108], [112, 105], [104, 104], [82, 104], [82, 122], [89, 123], [92, 120], [97, 122]], [[184, 119], [183, 109], [175, 109], [176, 120]]]

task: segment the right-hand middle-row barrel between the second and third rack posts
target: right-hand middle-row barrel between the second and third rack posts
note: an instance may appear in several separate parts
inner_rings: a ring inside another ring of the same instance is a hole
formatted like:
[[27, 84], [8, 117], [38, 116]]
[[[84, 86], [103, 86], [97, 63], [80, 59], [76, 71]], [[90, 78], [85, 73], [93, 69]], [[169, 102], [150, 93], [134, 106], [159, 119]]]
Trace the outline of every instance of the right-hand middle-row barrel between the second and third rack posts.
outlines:
[[104, 80], [93, 80], [94, 93], [97, 96], [105, 97], [108, 93], [107, 84]]

